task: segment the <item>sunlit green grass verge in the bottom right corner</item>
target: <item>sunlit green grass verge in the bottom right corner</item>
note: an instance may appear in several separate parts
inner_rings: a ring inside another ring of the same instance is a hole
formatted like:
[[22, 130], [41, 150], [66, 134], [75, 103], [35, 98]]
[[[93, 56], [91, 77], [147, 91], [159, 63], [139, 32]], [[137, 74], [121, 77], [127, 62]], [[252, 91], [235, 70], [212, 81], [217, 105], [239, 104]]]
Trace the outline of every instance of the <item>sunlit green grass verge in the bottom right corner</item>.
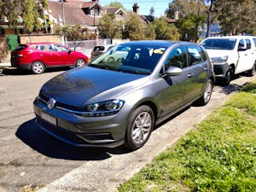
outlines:
[[256, 82], [118, 191], [256, 191]]

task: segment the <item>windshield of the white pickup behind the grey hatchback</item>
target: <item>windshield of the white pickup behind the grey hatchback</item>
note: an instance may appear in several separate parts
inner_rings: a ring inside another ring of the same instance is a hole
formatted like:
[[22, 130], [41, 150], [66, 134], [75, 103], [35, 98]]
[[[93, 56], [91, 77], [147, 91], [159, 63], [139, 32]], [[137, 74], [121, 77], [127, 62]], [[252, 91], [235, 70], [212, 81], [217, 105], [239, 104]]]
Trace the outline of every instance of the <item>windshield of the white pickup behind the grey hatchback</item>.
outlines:
[[235, 38], [209, 38], [202, 42], [202, 45], [206, 49], [228, 49], [232, 50], [235, 48]]

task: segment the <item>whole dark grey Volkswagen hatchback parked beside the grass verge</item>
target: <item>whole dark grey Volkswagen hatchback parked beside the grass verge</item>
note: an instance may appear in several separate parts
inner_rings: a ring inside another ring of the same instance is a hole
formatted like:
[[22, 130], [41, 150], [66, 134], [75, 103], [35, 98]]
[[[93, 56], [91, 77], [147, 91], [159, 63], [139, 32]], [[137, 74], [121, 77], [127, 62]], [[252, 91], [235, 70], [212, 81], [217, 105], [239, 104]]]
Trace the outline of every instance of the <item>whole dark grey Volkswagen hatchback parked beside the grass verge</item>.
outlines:
[[135, 150], [154, 125], [193, 102], [206, 105], [214, 81], [201, 45], [134, 41], [50, 79], [33, 107], [39, 127], [65, 143]]

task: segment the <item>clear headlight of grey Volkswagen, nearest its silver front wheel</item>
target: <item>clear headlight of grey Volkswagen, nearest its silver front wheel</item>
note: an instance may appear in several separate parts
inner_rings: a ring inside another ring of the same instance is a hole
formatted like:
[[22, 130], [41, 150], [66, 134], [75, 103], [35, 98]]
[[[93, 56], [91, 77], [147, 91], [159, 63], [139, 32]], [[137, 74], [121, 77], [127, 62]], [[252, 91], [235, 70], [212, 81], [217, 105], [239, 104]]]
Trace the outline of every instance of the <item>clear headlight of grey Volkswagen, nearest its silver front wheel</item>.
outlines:
[[118, 113], [123, 107], [125, 101], [122, 100], [108, 100], [105, 102], [95, 102], [84, 106], [77, 113], [84, 117], [102, 117]]

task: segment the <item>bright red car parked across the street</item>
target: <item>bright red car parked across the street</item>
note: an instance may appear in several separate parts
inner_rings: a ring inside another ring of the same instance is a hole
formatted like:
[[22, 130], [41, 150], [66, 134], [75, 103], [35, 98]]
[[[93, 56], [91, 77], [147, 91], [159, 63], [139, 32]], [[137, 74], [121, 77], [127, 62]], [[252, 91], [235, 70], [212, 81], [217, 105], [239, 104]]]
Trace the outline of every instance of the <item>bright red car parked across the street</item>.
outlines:
[[62, 44], [32, 43], [20, 44], [11, 53], [11, 65], [32, 73], [44, 73], [49, 67], [81, 67], [88, 62], [88, 57], [72, 51]]

